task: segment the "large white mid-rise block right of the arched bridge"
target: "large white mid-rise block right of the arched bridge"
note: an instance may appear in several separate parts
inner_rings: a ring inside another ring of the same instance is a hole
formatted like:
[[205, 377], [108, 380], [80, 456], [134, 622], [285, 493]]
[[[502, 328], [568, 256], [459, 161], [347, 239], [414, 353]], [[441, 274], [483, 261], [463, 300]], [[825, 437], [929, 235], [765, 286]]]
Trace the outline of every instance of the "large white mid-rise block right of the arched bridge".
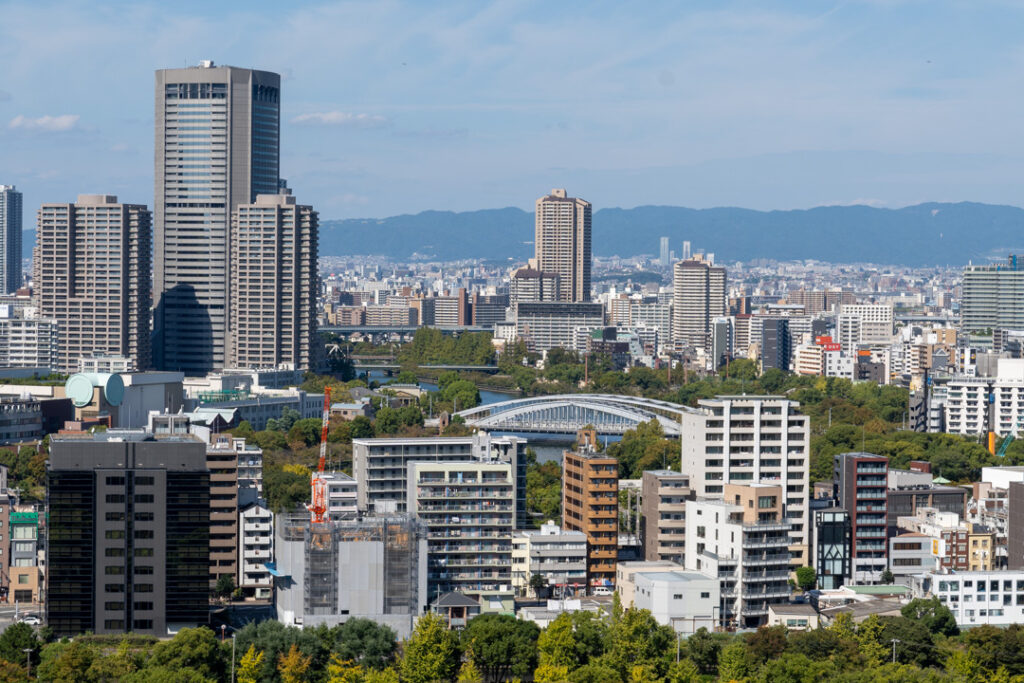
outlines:
[[794, 568], [809, 561], [810, 420], [779, 396], [718, 396], [682, 419], [682, 471], [698, 497], [727, 483], [778, 483], [792, 524]]

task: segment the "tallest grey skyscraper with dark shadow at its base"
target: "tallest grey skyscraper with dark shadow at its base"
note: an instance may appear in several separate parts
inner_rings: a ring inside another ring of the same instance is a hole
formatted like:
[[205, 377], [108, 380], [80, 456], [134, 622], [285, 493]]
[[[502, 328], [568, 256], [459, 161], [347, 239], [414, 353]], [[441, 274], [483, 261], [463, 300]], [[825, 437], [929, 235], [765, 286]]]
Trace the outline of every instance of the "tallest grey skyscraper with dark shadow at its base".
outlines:
[[281, 77], [203, 61], [156, 82], [156, 364], [204, 375], [230, 354], [231, 212], [278, 193]]

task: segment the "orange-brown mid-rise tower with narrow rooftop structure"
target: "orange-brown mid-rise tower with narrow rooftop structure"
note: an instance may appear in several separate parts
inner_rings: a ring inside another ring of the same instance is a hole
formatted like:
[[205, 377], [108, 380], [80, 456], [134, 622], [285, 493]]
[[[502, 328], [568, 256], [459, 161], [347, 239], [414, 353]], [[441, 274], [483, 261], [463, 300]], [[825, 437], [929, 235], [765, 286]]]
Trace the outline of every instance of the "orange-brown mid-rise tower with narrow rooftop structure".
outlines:
[[562, 528], [587, 535], [587, 585], [611, 588], [618, 558], [618, 462], [597, 452], [597, 432], [581, 429], [562, 463]]

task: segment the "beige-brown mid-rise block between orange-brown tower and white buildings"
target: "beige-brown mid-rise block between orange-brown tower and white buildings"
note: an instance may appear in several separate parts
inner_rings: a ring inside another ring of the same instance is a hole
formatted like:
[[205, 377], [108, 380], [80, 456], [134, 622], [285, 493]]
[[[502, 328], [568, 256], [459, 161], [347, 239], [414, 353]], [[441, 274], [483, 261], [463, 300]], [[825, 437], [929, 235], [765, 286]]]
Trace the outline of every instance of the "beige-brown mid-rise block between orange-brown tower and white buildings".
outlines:
[[685, 563], [686, 500], [690, 476], [672, 470], [647, 470], [641, 479], [641, 543], [645, 560]]

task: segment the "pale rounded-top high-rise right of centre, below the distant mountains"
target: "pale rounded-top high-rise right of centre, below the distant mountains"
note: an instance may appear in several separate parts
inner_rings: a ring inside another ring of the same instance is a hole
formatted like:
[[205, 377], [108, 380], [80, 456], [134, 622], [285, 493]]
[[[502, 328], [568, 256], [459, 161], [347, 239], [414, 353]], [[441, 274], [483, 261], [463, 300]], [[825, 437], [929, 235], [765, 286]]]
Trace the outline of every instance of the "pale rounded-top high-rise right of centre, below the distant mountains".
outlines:
[[712, 321], [726, 314], [725, 268], [697, 256], [676, 263], [672, 340], [708, 349]]

